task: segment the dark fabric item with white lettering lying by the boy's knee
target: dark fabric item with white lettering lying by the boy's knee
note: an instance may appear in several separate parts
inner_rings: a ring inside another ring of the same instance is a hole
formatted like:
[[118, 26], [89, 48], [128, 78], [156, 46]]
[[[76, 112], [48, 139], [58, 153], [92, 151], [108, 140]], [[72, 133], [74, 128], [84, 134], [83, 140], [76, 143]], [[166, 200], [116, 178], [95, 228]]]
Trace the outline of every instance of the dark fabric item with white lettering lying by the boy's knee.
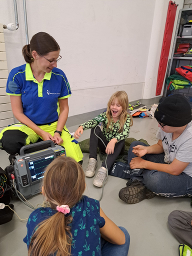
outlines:
[[114, 162], [108, 170], [108, 174], [119, 178], [131, 178], [140, 176], [144, 169], [131, 169], [127, 163]]

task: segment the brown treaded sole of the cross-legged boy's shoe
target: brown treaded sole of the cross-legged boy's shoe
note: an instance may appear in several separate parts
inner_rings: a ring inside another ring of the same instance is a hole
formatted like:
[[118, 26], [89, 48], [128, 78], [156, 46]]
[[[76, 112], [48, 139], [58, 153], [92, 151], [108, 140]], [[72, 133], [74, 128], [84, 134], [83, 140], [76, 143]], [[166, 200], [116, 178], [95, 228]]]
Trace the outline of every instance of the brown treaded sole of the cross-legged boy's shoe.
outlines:
[[118, 196], [124, 202], [129, 203], [129, 204], [134, 204], [134, 203], [138, 203], [146, 198], [147, 190], [148, 189], [145, 186], [142, 186], [141, 188], [124, 187], [124, 188], [120, 189]]

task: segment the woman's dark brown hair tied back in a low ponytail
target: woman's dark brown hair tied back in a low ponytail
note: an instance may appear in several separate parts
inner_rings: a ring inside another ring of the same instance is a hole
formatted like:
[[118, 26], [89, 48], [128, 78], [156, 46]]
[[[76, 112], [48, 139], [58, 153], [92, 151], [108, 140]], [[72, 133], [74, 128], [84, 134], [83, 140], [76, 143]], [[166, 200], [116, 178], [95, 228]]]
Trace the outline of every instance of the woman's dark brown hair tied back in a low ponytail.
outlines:
[[22, 47], [22, 55], [27, 63], [31, 63], [33, 61], [33, 50], [41, 55], [46, 55], [50, 51], [60, 50], [60, 47], [50, 34], [38, 32], [32, 36], [30, 44], [25, 44]]

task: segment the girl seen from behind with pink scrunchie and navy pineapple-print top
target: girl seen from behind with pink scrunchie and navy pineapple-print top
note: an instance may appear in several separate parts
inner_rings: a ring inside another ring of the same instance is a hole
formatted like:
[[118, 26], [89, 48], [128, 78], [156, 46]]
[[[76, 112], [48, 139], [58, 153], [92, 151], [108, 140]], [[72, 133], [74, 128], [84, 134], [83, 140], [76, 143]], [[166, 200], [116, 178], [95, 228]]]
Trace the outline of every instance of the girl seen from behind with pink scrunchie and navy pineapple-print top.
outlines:
[[128, 232], [97, 200], [82, 195], [84, 189], [84, 172], [72, 158], [57, 157], [47, 166], [42, 193], [50, 207], [37, 208], [28, 218], [23, 239], [28, 256], [127, 256]]

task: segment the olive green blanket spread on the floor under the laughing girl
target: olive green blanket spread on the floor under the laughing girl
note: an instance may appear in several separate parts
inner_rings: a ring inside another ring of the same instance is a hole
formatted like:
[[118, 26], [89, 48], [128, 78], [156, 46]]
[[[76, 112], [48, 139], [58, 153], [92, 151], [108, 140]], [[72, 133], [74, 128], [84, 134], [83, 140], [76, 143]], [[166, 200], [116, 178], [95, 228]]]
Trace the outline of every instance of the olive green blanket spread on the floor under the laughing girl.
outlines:
[[[123, 154], [120, 154], [118, 156], [117, 159], [115, 159], [116, 161], [120, 161], [120, 162], [127, 162], [126, 159], [124, 159], [125, 157], [124, 156], [127, 156], [128, 154], [128, 149], [130, 147], [130, 144], [135, 141], [136, 139], [135, 138], [126, 138], [125, 139], [125, 148], [124, 148], [124, 153]], [[144, 140], [143, 138], [139, 139], [138, 141], [141, 141], [147, 145], [148, 142], [146, 140]], [[80, 146], [80, 149], [83, 153], [89, 153], [89, 138], [87, 139], [84, 139], [82, 141], [79, 142], [79, 146]], [[106, 154], [103, 154], [101, 152], [99, 152], [99, 149], [97, 147], [97, 153], [99, 153], [99, 157], [100, 157], [100, 160], [104, 161], [105, 158], [106, 158]]]

